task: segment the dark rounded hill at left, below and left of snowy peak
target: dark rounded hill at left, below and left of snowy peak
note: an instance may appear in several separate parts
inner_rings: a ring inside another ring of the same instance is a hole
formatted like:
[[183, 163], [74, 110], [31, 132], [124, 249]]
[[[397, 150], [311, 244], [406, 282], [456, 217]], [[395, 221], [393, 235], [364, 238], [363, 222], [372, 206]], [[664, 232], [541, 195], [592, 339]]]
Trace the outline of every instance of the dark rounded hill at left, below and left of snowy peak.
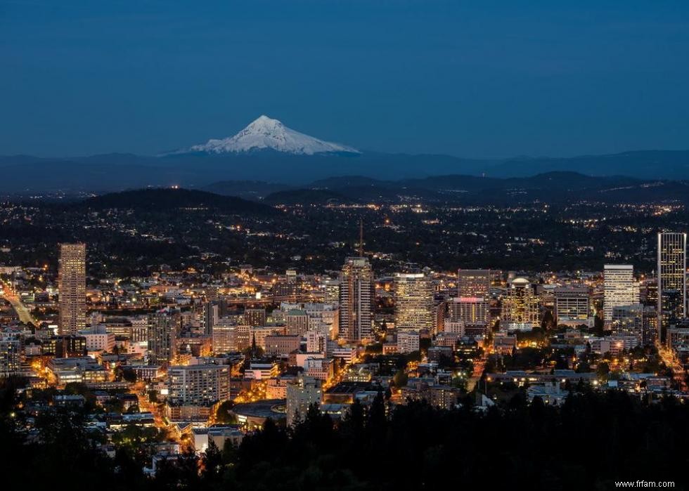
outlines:
[[188, 189], [155, 188], [91, 197], [70, 204], [74, 209], [103, 210], [109, 208], [169, 211], [181, 208], [211, 208], [226, 213], [274, 214], [276, 211], [265, 204], [255, 203], [232, 196], [215, 195], [212, 192]]

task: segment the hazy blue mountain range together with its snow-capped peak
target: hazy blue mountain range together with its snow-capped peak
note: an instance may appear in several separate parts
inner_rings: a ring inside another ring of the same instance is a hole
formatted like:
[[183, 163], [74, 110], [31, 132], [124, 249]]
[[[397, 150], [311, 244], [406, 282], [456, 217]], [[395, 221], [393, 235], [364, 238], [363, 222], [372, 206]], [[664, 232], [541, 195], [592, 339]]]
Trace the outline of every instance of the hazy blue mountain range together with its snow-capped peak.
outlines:
[[[569, 158], [406, 155], [330, 143], [292, 130], [277, 119], [261, 116], [234, 136], [157, 156], [111, 153], [87, 157], [0, 157], [0, 193], [109, 192], [168, 185], [204, 188], [223, 181], [261, 181], [286, 188], [304, 187], [332, 176], [361, 176], [378, 181], [444, 176], [441, 182], [448, 183], [446, 176], [463, 176], [461, 179], [469, 182], [471, 176], [523, 178], [550, 171], [647, 180], [689, 179], [689, 150]], [[490, 181], [483, 181], [486, 182]], [[284, 188], [273, 189], [279, 190]], [[221, 188], [217, 191], [226, 194]]]

